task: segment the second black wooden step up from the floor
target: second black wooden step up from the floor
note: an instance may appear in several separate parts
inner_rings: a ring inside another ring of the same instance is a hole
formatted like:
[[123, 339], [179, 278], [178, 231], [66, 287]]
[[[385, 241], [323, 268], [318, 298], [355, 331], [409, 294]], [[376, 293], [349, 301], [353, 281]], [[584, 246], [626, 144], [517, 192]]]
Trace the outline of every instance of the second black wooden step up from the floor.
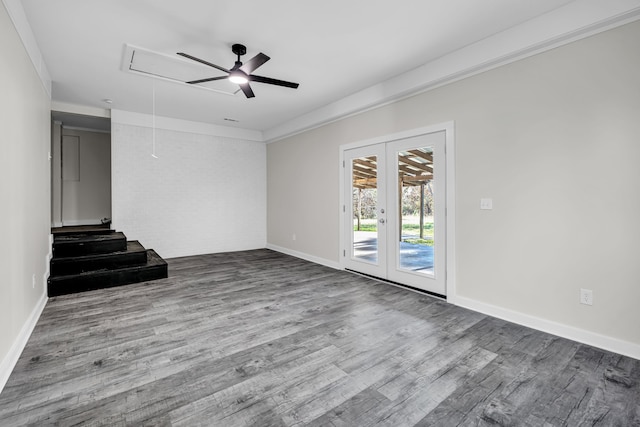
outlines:
[[147, 262], [146, 249], [137, 240], [127, 242], [124, 251], [51, 259], [51, 276], [67, 276], [91, 270], [113, 270]]

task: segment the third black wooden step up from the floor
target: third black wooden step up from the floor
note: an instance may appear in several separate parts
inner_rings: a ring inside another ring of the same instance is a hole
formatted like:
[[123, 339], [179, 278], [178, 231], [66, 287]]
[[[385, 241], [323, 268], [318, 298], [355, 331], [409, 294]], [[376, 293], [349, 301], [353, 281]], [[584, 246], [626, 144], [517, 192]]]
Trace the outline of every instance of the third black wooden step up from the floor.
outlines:
[[120, 232], [54, 236], [54, 258], [104, 254], [127, 250], [127, 238]]

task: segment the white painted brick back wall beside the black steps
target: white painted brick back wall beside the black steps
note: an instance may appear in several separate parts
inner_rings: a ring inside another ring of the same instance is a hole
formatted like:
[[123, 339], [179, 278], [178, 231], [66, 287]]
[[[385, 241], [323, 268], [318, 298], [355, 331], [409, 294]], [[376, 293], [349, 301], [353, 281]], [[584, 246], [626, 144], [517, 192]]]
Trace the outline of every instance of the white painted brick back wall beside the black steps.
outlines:
[[152, 129], [125, 116], [112, 112], [114, 229], [165, 258], [265, 247], [264, 143], [161, 128], [153, 158]]

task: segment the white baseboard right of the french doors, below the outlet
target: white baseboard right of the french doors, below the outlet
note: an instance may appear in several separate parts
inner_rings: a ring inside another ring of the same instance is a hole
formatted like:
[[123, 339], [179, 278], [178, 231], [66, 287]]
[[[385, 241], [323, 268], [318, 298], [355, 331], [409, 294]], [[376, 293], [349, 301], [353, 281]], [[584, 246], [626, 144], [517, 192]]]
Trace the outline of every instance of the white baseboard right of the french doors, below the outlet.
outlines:
[[539, 317], [530, 316], [528, 314], [519, 313], [513, 310], [508, 310], [470, 298], [456, 296], [455, 298], [449, 299], [448, 301], [457, 306], [468, 308], [470, 310], [487, 314], [489, 316], [497, 317], [502, 320], [507, 320], [509, 322], [517, 323], [522, 326], [527, 326], [529, 328], [547, 332], [552, 335], [557, 335], [562, 338], [567, 338], [572, 341], [577, 341], [583, 344], [598, 347], [603, 350], [612, 351], [614, 353], [622, 354], [624, 356], [629, 356], [634, 359], [640, 360], [640, 345], [629, 341], [611, 338], [605, 335], [597, 334], [595, 332], [590, 332], [562, 323], [541, 319]]

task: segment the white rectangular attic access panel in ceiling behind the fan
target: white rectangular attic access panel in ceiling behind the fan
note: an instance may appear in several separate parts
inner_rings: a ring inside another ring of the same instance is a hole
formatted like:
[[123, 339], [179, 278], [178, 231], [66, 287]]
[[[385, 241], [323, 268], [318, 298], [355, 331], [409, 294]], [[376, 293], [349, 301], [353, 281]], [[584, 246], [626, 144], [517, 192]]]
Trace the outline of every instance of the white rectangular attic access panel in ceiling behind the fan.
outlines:
[[[187, 85], [186, 81], [205, 79], [215, 75], [216, 70], [187, 61], [179, 56], [154, 52], [137, 46], [125, 45], [122, 57], [122, 71], [134, 73], [145, 77], [168, 80], [189, 87], [206, 89], [224, 95], [235, 95], [240, 92], [238, 85], [230, 81], [217, 80], [197, 85]], [[220, 72], [220, 75], [224, 75]]]

